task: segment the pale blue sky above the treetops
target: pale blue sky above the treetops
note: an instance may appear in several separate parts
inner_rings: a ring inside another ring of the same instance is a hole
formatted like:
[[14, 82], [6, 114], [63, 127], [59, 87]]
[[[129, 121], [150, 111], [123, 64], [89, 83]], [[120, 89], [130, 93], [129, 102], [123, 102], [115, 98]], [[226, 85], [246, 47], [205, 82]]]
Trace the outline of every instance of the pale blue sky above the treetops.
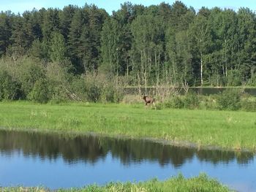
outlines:
[[[163, 0], [129, 0], [132, 4], [159, 4]], [[165, 0], [169, 4], [173, 4], [175, 0]], [[96, 4], [99, 8], [106, 9], [109, 13], [113, 10], [120, 8], [120, 4], [123, 4], [125, 0], [0, 0], [0, 10], [11, 10], [15, 13], [22, 13], [25, 10], [31, 10], [33, 8], [40, 9], [42, 7], [48, 8], [58, 7], [62, 9], [65, 5], [75, 4], [79, 7], [83, 7], [85, 3]], [[252, 11], [256, 11], [256, 0], [183, 0], [187, 7], [194, 7], [196, 10], [200, 7], [221, 7], [232, 8], [238, 10], [239, 7], [249, 7]]]

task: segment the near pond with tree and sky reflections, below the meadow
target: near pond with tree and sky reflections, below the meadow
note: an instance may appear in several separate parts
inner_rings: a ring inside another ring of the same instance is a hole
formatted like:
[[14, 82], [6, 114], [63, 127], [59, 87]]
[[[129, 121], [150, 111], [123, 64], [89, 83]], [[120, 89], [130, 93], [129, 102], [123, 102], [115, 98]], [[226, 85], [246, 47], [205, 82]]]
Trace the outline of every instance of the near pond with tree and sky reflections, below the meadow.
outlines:
[[0, 130], [0, 186], [82, 187], [165, 180], [205, 172], [238, 191], [256, 191], [253, 153], [174, 147], [148, 140]]

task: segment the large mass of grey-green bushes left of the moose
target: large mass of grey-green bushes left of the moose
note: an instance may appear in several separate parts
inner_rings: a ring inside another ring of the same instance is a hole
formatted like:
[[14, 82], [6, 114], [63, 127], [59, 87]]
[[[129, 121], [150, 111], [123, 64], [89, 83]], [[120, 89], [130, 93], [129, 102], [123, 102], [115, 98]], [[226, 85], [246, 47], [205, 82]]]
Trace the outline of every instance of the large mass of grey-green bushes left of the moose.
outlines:
[[0, 66], [0, 101], [28, 99], [39, 103], [70, 100], [104, 103], [121, 101], [124, 95], [113, 77], [96, 73], [69, 74], [70, 66], [57, 61], [45, 65], [37, 58], [24, 56], [19, 61], [2, 59]]

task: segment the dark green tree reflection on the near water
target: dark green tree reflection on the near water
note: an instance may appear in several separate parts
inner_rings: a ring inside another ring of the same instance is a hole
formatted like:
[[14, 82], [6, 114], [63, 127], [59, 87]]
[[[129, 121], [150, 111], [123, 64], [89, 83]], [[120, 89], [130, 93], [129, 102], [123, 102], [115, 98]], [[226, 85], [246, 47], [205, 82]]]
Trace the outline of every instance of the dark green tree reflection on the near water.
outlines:
[[120, 158], [123, 164], [140, 161], [158, 161], [161, 166], [172, 164], [181, 166], [193, 157], [212, 164], [236, 160], [238, 164], [248, 164], [254, 158], [253, 153], [222, 150], [199, 150], [188, 147], [176, 147], [150, 142], [144, 139], [116, 139], [96, 136], [67, 136], [26, 131], [0, 131], [0, 152], [12, 155], [20, 151], [24, 156], [35, 155], [42, 159], [55, 160], [59, 156], [69, 164], [85, 161], [91, 164], [105, 158], [110, 153]]

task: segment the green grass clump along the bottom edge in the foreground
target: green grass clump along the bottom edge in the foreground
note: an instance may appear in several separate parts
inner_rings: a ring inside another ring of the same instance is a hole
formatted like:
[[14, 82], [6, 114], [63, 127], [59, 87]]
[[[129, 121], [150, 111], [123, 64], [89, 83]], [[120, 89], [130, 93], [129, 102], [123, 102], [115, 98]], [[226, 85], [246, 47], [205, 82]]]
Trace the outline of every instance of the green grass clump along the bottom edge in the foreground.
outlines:
[[[38, 191], [46, 192], [48, 189], [44, 188], [0, 188], [0, 191]], [[206, 174], [200, 174], [198, 177], [190, 179], [184, 178], [181, 174], [177, 177], [172, 177], [169, 180], [159, 181], [150, 180], [143, 183], [109, 183], [105, 186], [89, 185], [85, 188], [71, 188], [71, 189], [59, 189], [59, 192], [115, 192], [115, 191], [161, 191], [161, 192], [175, 192], [175, 191], [230, 191], [224, 185], [221, 185], [217, 180], [208, 178]]]

